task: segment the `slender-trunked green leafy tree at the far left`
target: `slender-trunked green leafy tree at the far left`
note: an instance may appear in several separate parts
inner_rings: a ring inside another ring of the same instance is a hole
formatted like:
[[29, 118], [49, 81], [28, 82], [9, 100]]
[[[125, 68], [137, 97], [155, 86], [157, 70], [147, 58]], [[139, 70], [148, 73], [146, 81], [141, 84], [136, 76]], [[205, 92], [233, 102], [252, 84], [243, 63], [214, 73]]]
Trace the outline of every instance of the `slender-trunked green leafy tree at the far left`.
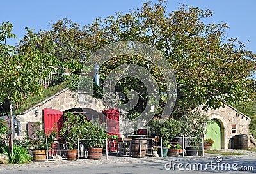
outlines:
[[[14, 36], [12, 24], [3, 23], [0, 28], [1, 41]], [[53, 42], [49, 34], [36, 36], [30, 29], [20, 41], [17, 50], [1, 45], [0, 50], [0, 101], [7, 100], [10, 108], [11, 150], [13, 147], [13, 105], [29, 95], [38, 94], [44, 81], [51, 75], [56, 64]], [[5, 38], [6, 39], [6, 38]], [[1, 43], [2, 44], [2, 43]], [[13, 152], [13, 151], [12, 151]]]

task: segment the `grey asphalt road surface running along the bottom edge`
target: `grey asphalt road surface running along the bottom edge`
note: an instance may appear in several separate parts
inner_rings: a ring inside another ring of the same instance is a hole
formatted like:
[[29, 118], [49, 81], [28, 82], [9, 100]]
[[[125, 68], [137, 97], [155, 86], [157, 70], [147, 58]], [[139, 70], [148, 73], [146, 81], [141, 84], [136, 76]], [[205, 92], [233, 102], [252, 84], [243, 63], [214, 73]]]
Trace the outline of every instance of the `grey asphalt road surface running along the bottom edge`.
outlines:
[[256, 173], [256, 159], [224, 157], [224, 159], [220, 159], [220, 162], [216, 162], [216, 159], [172, 159], [171, 161], [170, 159], [159, 159], [151, 162], [136, 161], [136, 163], [74, 164], [37, 168], [12, 168], [0, 170], [0, 173]]

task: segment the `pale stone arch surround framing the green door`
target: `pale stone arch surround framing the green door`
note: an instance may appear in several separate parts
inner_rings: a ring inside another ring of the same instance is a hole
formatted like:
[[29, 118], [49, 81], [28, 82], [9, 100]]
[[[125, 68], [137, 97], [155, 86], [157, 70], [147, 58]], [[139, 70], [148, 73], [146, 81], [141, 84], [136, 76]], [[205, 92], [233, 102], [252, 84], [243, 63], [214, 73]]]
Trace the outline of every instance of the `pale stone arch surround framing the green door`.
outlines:
[[[221, 117], [221, 115], [216, 114], [216, 113], [212, 113], [209, 115], [209, 119], [215, 119], [216, 121], [216, 125], [215, 128], [218, 127], [217, 124], [219, 123], [220, 125], [220, 148], [222, 149], [228, 149], [228, 140], [227, 140], [227, 131], [228, 131], [228, 126], [227, 126], [227, 122], [223, 119], [223, 117]], [[218, 133], [217, 133], [218, 134]], [[206, 134], [205, 134], [205, 138], [206, 138]], [[218, 146], [217, 146], [218, 147]]]

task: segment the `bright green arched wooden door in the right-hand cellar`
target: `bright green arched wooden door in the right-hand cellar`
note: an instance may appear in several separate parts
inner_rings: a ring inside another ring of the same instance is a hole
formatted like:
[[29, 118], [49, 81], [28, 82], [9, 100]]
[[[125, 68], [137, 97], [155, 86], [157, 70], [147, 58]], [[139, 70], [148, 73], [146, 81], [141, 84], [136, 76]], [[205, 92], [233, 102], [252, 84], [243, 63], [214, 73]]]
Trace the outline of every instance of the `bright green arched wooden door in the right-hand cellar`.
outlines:
[[206, 138], [212, 138], [214, 140], [212, 149], [221, 149], [221, 125], [218, 120], [212, 121], [212, 124], [206, 126]]

